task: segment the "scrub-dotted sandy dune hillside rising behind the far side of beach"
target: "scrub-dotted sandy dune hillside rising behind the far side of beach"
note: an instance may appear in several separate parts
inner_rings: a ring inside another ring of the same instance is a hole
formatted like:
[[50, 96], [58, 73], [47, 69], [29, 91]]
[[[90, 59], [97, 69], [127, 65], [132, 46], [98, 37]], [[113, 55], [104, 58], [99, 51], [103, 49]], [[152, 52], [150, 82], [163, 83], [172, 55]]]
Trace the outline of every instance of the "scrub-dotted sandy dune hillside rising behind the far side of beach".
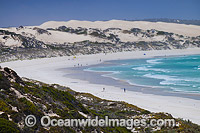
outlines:
[[[114, 20], [101, 23], [69, 21], [1, 28], [0, 62], [77, 54], [200, 47], [200, 26], [132, 23]], [[165, 25], [168, 27], [164, 27]]]

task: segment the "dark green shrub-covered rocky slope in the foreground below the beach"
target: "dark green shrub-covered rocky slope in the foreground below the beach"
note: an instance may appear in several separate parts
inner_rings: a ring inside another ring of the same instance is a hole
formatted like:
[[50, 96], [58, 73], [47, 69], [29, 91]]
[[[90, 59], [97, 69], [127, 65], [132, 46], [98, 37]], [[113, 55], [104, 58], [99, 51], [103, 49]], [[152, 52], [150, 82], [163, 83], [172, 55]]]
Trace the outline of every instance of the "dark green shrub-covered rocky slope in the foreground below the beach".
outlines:
[[[25, 117], [34, 115], [37, 124], [27, 127]], [[103, 100], [87, 93], [79, 93], [56, 84], [20, 78], [9, 68], [0, 68], [0, 132], [200, 132], [200, 126], [176, 119], [176, 126], [137, 127], [42, 127], [39, 119], [51, 118], [82, 119], [95, 118], [173, 118], [167, 113], [151, 113], [125, 102]]]

